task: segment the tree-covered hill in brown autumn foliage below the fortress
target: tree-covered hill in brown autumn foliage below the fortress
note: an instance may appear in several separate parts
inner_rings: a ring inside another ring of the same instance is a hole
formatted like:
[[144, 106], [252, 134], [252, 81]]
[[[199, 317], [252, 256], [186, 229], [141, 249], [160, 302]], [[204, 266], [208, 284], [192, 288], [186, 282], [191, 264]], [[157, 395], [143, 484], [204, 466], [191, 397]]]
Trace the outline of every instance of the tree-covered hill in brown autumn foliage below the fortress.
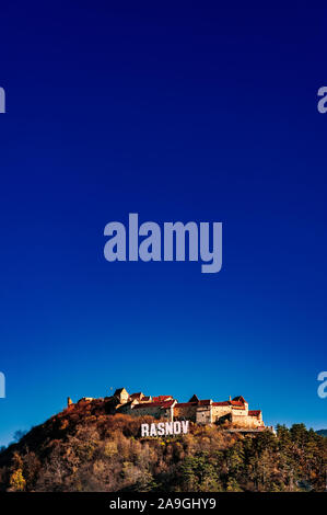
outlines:
[[303, 424], [256, 437], [190, 424], [183, 436], [141, 438], [152, 417], [112, 410], [106, 400], [80, 402], [32, 428], [0, 454], [0, 490], [325, 490], [327, 439]]

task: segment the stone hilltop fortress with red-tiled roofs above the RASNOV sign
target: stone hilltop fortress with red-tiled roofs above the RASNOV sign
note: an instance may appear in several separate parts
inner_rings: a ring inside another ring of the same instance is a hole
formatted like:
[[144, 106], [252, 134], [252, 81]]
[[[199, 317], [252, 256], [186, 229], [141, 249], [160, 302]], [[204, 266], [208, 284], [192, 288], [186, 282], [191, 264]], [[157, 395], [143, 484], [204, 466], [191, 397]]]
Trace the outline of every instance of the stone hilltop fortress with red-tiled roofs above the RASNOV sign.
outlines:
[[[92, 401], [92, 398], [79, 402]], [[114, 396], [105, 399], [112, 407], [112, 413], [132, 416], [151, 415], [167, 422], [190, 421], [196, 424], [223, 424], [229, 422], [235, 430], [265, 430], [260, 410], [249, 410], [246, 400], [240, 396], [223, 402], [212, 399], [200, 400], [194, 394], [188, 402], [178, 402], [172, 396], [144, 396], [142, 392], [129, 394], [125, 388], [118, 388]], [[68, 404], [72, 401], [69, 398]]]

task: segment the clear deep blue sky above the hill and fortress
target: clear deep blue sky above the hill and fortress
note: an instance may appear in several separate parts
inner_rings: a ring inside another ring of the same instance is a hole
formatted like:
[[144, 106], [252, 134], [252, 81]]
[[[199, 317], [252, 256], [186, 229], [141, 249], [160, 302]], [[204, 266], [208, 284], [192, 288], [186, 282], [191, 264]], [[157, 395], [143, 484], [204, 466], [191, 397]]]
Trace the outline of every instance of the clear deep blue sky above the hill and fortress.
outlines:
[[[0, 444], [120, 386], [327, 426], [326, 10], [154, 3], [1, 5]], [[128, 213], [222, 271], [106, 262]]]

